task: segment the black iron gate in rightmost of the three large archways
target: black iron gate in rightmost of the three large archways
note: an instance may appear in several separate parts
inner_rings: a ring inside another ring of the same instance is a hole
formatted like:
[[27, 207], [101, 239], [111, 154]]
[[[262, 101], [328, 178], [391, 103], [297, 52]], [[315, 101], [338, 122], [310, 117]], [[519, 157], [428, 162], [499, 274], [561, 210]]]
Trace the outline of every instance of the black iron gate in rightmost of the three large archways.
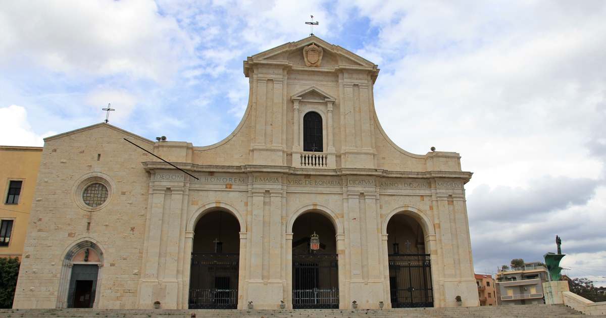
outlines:
[[433, 307], [429, 254], [390, 254], [391, 307]]

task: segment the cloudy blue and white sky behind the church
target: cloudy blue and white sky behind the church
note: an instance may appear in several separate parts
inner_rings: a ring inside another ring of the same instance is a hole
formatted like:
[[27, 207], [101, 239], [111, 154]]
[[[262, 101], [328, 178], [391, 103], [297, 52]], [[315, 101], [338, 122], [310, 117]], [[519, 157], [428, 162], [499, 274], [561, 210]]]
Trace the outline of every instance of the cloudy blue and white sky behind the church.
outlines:
[[105, 119], [208, 145], [236, 127], [250, 55], [315, 33], [375, 62], [405, 150], [457, 151], [475, 270], [541, 260], [606, 285], [604, 1], [3, 1], [0, 144]]

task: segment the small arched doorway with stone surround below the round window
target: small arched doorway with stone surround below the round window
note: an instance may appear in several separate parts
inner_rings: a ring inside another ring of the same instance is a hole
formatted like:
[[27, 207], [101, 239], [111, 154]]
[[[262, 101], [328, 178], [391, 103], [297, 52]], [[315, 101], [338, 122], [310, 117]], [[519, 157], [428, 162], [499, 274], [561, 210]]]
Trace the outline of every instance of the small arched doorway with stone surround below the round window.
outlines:
[[63, 259], [58, 308], [96, 308], [104, 255], [90, 240], [75, 243]]

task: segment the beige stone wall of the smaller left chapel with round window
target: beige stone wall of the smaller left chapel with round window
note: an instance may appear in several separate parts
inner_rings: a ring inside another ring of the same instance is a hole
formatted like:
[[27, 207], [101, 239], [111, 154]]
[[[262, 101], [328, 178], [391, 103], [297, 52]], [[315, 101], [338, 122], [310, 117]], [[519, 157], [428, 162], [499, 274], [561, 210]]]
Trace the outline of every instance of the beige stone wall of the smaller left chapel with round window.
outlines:
[[[141, 162], [153, 157], [124, 137], [151, 149], [149, 141], [105, 124], [45, 142], [15, 308], [55, 308], [65, 301], [58, 300], [62, 264], [82, 240], [95, 242], [104, 253], [99, 308], [135, 308], [149, 179]], [[106, 207], [84, 211], [74, 189], [95, 172], [107, 175], [115, 188]]]

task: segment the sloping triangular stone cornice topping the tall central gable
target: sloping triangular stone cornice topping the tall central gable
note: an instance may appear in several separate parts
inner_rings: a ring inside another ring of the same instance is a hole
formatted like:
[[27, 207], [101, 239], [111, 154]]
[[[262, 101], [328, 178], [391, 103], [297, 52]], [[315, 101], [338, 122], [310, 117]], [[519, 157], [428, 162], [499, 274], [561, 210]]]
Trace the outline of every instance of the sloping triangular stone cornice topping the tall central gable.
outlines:
[[319, 47], [322, 47], [322, 49], [327, 50], [330, 53], [333, 53], [337, 56], [342, 57], [343, 61], [352, 61], [355, 64], [362, 65], [362, 66], [369, 66], [369, 67], [375, 66], [375, 64], [373, 62], [370, 62], [367, 59], [362, 58], [362, 56], [356, 55], [355, 53], [353, 53], [345, 48], [342, 48], [339, 45], [330, 44], [330, 43], [324, 41], [323, 39], [318, 38], [315, 35], [308, 36], [307, 38], [301, 39], [296, 42], [287, 42], [287, 43], [279, 45], [275, 48], [270, 48], [269, 50], [262, 51], [261, 53], [257, 53], [255, 55], [251, 56], [251, 58], [271, 60], [272, 58], [277, 57], [278, 60], [284, 60], [284, 58], [280, 58], [279, 56], [283, 55], [284, 53], [290, 53], [291, 51], [299, 50], [312, 43], [318, 45]]

